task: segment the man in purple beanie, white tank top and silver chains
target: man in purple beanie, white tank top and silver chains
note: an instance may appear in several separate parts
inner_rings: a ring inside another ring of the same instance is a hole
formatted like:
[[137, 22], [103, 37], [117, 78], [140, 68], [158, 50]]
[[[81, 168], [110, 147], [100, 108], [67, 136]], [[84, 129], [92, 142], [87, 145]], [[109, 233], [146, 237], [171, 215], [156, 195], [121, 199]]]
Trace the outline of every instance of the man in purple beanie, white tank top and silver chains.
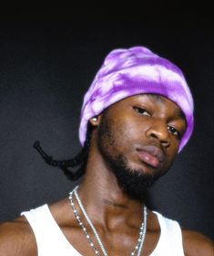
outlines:
[[[188, 143], [193, 101], [178, 67], [148, 48], [115, 49], [84, 98], [69, 197], [1, 224], [0, 255], [207, 255], [213, 243], [145, 205], [148, 187]], [[76, 164], [77, 163], [77, 164]]]

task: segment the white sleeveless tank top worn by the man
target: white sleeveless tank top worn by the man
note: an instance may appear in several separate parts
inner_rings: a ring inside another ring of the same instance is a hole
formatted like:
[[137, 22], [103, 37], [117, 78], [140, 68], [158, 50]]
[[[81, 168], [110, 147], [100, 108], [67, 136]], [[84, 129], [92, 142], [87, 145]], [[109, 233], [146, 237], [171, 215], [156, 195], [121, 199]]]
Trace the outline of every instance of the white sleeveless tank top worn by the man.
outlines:
[[[181, 229], [177, 221], [167, 219], [158, 212], [160, 237], [150, 256], [184, 256]], [[82, 256], [66, 240], [47, 205], [22, 212], [36, 237], [38, 256]]]

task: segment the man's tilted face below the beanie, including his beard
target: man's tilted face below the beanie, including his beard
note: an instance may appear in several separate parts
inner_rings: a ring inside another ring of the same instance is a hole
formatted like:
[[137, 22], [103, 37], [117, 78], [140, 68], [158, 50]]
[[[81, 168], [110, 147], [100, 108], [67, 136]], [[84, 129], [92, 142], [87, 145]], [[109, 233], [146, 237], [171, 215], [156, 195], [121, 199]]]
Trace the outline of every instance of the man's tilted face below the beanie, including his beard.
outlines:
[[138, 185], [133, 187], [139, 189], [141, 183], [145, 191], [172, 165], [185, 129], [176, 103], [158, 95], [135, 95], [102, 113], [97, 144], [120, 186], [127, 190], [124, 179], [130, 184], [135, 176], [132, 183]]

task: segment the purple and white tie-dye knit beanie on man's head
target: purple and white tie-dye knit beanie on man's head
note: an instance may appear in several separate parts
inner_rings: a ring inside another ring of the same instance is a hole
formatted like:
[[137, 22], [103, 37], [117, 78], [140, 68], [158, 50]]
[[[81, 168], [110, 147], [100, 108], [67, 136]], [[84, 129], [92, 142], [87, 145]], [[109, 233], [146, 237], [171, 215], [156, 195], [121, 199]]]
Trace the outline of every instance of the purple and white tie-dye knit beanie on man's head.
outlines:
[[97, 71], [84, 97], [79, 140], [86, 140], [88, 120], [113, 103], [140, 93], [159, 94], [178, 104], [184, 112], [187, 130], [179, 151], [189, 141], [193, 130], [193, 99], [180, 69], [145, 47], [112, 50]]

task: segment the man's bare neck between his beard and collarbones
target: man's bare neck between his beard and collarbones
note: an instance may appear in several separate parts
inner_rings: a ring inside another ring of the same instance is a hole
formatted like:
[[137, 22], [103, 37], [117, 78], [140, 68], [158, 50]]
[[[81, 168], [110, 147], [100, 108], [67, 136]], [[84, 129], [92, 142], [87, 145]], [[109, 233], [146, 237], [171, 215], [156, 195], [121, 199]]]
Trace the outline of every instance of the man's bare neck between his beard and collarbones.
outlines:
[[78, 195], [92, 221], [108, 229], [125, 222], [138, 227], [143, 219], [143, 203], [123, 192], [116, 176], [97, 152], [92, 151], [88, 156]]

